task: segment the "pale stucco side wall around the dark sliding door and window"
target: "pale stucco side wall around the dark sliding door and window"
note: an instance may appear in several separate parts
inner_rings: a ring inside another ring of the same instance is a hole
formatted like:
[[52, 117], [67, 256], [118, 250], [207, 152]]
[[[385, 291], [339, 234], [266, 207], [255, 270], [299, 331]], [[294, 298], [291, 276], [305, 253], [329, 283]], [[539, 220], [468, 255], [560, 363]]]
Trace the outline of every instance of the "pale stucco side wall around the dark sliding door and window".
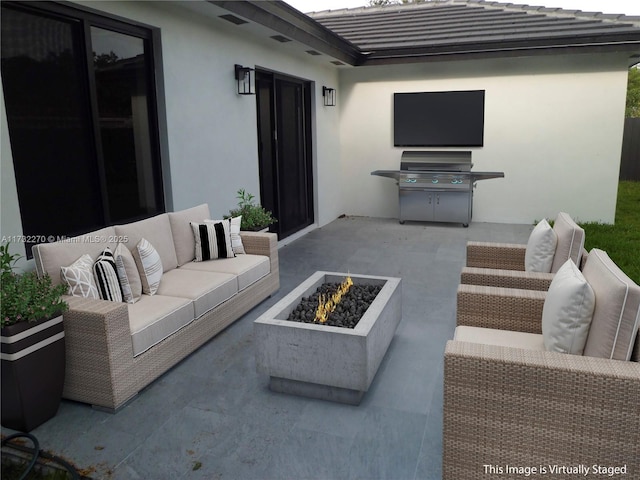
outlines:
[[[81, 2], [78, 2], [81, 3]], [[320, 226], [342, 211], [333, 191], [340, 165], [338, 109], [322, 105], [322, 86], [336, 87], [338, 71], [327, 56], [293, 51], [268, 36], [207, 18], [169, 2], [82, 2], [88, 8], [161, 29], [169, 176], [174, 210], [208, 203], [213, 218], [237, 204], [245, 188], [259, 197], [256, 97], [236, 93], [234, 65], [258, 66], [315, 82], [313, 117], [315, 220]], [[191, 3], [191, 2], [185, 2]], [[206, 7], [206, 4], [203, 4]], [[224, 12], [220, 12], [224, 13]], [[294, 43], [294, 42], [291, 42]], [[2, 235], [20, 235], [13, 161], [4, 102], [2, 115]], [[326, 194], [329, 191], [331, 194]], [[318, 194], [320, 192], [320, 194]]]

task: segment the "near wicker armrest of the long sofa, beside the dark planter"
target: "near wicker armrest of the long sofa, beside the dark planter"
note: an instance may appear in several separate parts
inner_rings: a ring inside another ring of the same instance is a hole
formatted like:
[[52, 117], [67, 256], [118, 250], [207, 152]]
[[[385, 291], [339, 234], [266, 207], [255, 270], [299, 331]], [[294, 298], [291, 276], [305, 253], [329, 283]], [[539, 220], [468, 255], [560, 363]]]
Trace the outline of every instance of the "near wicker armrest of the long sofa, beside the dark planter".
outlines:
[[105, 408], [121, 404], [137, 390], [126, 303], [66, 297], [64, 397]]

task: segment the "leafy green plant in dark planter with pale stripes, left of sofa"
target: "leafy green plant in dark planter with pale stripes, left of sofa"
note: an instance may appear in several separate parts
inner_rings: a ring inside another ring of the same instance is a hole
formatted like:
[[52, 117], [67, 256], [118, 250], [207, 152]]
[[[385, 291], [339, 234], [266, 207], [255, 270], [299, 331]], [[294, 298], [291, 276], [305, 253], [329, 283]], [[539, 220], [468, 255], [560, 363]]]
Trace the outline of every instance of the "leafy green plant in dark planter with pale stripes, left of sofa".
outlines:
[[14, 272], [20, 255], [0, 246], [2, 425], [28, 432], [53, 417], [62, 398], [64, 285]]

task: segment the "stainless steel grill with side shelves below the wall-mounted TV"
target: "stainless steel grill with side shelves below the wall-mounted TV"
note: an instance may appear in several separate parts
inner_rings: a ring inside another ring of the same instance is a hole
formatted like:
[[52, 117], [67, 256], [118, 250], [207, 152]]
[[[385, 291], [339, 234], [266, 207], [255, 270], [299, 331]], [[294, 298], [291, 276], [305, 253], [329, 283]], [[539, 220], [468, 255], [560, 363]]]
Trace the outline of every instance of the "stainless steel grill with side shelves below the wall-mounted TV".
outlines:
[[473, 188], [478, 180], [502, 178], [504, 172], [472, 172], [471, 152], [404, 151], [400, 170], [376, 170], [371, 175], [397, 181], [400, 223], [453, 222], [469, 226]]

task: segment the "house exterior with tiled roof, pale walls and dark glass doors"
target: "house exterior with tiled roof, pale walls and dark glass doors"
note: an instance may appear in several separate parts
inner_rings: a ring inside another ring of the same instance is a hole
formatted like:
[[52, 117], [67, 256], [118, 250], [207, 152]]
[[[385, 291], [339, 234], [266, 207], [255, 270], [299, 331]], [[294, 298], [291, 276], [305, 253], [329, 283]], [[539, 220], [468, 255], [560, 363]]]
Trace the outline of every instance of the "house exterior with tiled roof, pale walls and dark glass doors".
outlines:
[[[396, 185], [370, 172], [399, 167], [400, 92], [485, 91], [484, 143], [469, 150], [505, 178], [478, 183], [473, 221], [614, 221], [640, 18], [475, 0], [310, 15], [281, 1], [2, 6], [0, 233], [22, 253], [21, 240], [204, 202], [222, 218], [239, 188], [281, 237], [341, 214], [397, 217]], [[20, 59], [70, 55], [31, 95], [42, 77]], [[238, 93], [236, 65], [255, 95]]]

